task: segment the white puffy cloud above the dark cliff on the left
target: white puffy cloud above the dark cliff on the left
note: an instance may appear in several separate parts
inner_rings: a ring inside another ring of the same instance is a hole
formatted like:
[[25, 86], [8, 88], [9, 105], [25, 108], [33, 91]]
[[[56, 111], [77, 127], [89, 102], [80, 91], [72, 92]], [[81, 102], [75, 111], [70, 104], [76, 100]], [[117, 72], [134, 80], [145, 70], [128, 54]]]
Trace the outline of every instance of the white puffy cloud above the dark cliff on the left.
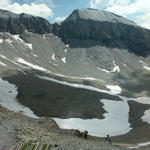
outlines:
[[31, 4], [19, 4], [19, 3], [12, 3], [11, 0], [1, 0], [0, 8], [12, 11], [14, 13], [27, 13], [34, 16], [40, 17], [50, 17], [53, 16], [52, 9], [49, 8], [44, 3], [31, 3]]

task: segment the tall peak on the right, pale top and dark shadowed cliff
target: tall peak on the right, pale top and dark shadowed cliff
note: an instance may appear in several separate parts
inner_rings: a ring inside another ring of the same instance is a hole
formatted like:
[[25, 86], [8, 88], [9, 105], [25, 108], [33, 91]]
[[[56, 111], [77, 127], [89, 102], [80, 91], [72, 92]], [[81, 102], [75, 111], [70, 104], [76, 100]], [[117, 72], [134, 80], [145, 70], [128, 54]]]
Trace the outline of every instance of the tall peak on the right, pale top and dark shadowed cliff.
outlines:
[[73, 39], [93, 40], [97, 41], [97, 45], [125, 48], [137, 55], [147, 56], [150, 53], [150, 30], [106, 11], [75, 10], [62, 23], [59, 34], [72, 47], [78, 47], [71, 44]]

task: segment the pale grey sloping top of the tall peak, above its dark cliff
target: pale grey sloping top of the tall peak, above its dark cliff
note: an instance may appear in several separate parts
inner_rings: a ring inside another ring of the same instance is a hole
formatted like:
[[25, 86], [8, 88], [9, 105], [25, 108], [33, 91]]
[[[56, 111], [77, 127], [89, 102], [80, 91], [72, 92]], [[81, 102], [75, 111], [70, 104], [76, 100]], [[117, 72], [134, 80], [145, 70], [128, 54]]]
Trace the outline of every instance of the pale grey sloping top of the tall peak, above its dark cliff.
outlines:
[[124, 17], [118, 16], [108, 11], [100, 11], [98, 9], [76, 9], [65, 21], [75, 21], [77, 19], [93, 20], [100, 22], [113, 22], [123, 23], [128, 25], [136, 25], [133, 21], [130, 21]]

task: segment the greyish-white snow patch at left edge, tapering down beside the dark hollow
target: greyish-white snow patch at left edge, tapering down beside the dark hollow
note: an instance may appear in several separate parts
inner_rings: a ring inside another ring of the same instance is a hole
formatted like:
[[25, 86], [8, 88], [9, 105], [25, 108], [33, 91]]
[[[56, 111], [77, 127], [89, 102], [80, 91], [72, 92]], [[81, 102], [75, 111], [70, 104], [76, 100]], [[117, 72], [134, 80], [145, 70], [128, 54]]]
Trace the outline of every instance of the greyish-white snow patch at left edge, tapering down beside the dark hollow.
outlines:
[[22, 111], [29, 117], [38, 118], [29, 108], [24, 107], [16, 101], [17, 94], [17, 87], [15, 85], [0, 78], [0, 105], [15, 112]]

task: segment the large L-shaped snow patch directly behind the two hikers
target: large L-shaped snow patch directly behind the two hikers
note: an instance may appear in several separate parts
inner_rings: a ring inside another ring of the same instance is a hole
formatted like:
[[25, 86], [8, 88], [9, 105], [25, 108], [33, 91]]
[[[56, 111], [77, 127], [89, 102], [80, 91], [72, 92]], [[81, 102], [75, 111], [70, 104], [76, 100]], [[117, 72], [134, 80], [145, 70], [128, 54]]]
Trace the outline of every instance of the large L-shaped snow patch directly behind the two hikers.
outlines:
[[107, 99], [103, 99], [101, 102], [104, 104], [104, 109], [108, 112], [104, 114], [104, 119], [53, 119], [61, 128], [78, 129], [80, 131], [88, 130], [89, 134], [93, 136], [106, 137], [108, 133], [111, 136], [117, 136], [129, 132], [131, 128], [128, 123], [128, 103]]

